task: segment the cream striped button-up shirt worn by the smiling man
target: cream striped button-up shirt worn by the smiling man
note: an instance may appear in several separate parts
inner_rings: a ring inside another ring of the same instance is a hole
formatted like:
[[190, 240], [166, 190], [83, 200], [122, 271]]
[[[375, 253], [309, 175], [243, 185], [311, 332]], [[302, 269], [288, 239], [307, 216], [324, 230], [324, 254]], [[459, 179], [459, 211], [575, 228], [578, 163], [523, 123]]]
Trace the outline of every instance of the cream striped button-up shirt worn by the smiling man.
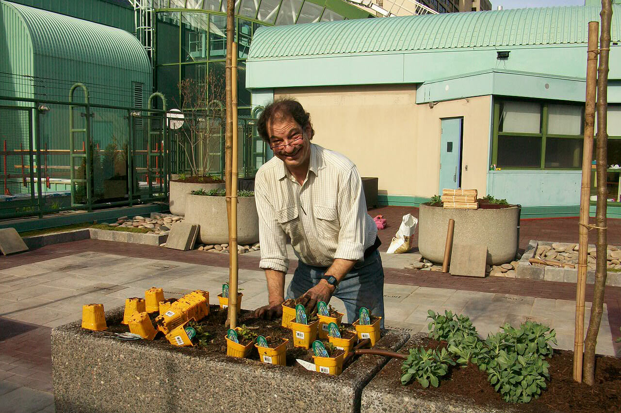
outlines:
[[255, 200], [262, 269], [287, 272], [287, 236], [302, 262], [329, 267], [336, 258], [363, 260], [378, 231], [355, 164], [316, 144], [304, 184], [274, 157], [256, 173]]

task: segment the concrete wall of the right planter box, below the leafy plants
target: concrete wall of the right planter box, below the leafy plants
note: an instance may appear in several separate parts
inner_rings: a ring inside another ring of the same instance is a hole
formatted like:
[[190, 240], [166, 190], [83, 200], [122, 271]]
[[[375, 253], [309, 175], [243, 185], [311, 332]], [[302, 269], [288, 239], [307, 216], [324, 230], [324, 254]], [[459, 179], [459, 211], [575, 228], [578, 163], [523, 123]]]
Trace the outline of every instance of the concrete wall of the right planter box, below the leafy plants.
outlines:
[[[406, 344], [410, 349], [420, 344], [420, 339], [413, 337]], [[401, 371], [403, 360], [392, 359], [385, 369], [396, 369]], [[483, 407], [473, 404], [471, 399], [466, 397], [429, 397], [427, 394], [417, 393], [415, 389], [406, 388], [399, 385], [395, 387], [392, 381], [380, 372], [362, 391], [360, 405], [361, 413], [391, 412], [391, 413], [513, 413], [519, 411], [515, 409], [515, 404], [507, 404], [506, 409], [497, 407]], [[522, 410], [524, 411], [524, 410]]]

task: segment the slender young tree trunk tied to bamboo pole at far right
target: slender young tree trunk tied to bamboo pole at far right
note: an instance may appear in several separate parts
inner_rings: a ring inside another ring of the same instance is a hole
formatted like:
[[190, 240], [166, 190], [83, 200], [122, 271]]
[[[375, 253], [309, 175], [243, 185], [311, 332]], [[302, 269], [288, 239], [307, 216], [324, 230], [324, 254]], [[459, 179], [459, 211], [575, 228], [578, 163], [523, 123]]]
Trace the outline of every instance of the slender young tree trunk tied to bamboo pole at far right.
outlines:
[[599, 38], [599, 69], [597, 76], [597, 267], [595, 272], [595, 288], [591, 306], [591, 318], [586, 340], [584, 340], [584, 383], [592, 385], [595, 378], [595, 346], [597, 333], [602, 321], [604, 309], [604, 288], [606, 285], [606, 169], [608, 163], [608, 133], [606, 111], [608, 107], [608, 56], [610, 51], [610, 21], [612, 20], [611, 0], [602, 0], [602, 31]]

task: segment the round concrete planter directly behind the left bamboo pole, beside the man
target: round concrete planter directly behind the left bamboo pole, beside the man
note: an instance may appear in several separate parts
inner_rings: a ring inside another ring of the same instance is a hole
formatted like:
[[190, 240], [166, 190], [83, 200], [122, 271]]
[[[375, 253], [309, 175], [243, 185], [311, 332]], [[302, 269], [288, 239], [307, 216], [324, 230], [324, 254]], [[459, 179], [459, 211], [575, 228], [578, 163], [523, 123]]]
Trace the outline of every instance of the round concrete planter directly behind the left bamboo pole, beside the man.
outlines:
[[[259, 216], [255, 197], [237, 198], [237, 243], [253, 244], [259, 241]], [[186, 222], [201, 226], [199, 239], [203, 244], [229, 242], [229, 224], [225, 197], [188, 195]]]

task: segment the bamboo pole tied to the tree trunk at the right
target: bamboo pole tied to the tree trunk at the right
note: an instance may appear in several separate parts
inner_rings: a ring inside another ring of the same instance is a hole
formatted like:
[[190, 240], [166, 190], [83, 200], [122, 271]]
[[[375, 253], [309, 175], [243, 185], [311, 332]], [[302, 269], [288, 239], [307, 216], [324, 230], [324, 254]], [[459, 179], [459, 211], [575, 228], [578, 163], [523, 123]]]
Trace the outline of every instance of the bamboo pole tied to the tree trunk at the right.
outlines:
[[584, 351], [584, 291], [586, 291], [587, 250], [589, 249], [589, 201], [591, 199], [591, 159], [597, 96], [597, 36], [599, 22], [589, 22], [586, 63], [586, 104], [584, 109], [584, 143], [582, 145], [582, 185], [580, 223], [578, 224], [578, 282], [576, 283], [576, 323], [574, 329], [574, 380], [582, 381]]

